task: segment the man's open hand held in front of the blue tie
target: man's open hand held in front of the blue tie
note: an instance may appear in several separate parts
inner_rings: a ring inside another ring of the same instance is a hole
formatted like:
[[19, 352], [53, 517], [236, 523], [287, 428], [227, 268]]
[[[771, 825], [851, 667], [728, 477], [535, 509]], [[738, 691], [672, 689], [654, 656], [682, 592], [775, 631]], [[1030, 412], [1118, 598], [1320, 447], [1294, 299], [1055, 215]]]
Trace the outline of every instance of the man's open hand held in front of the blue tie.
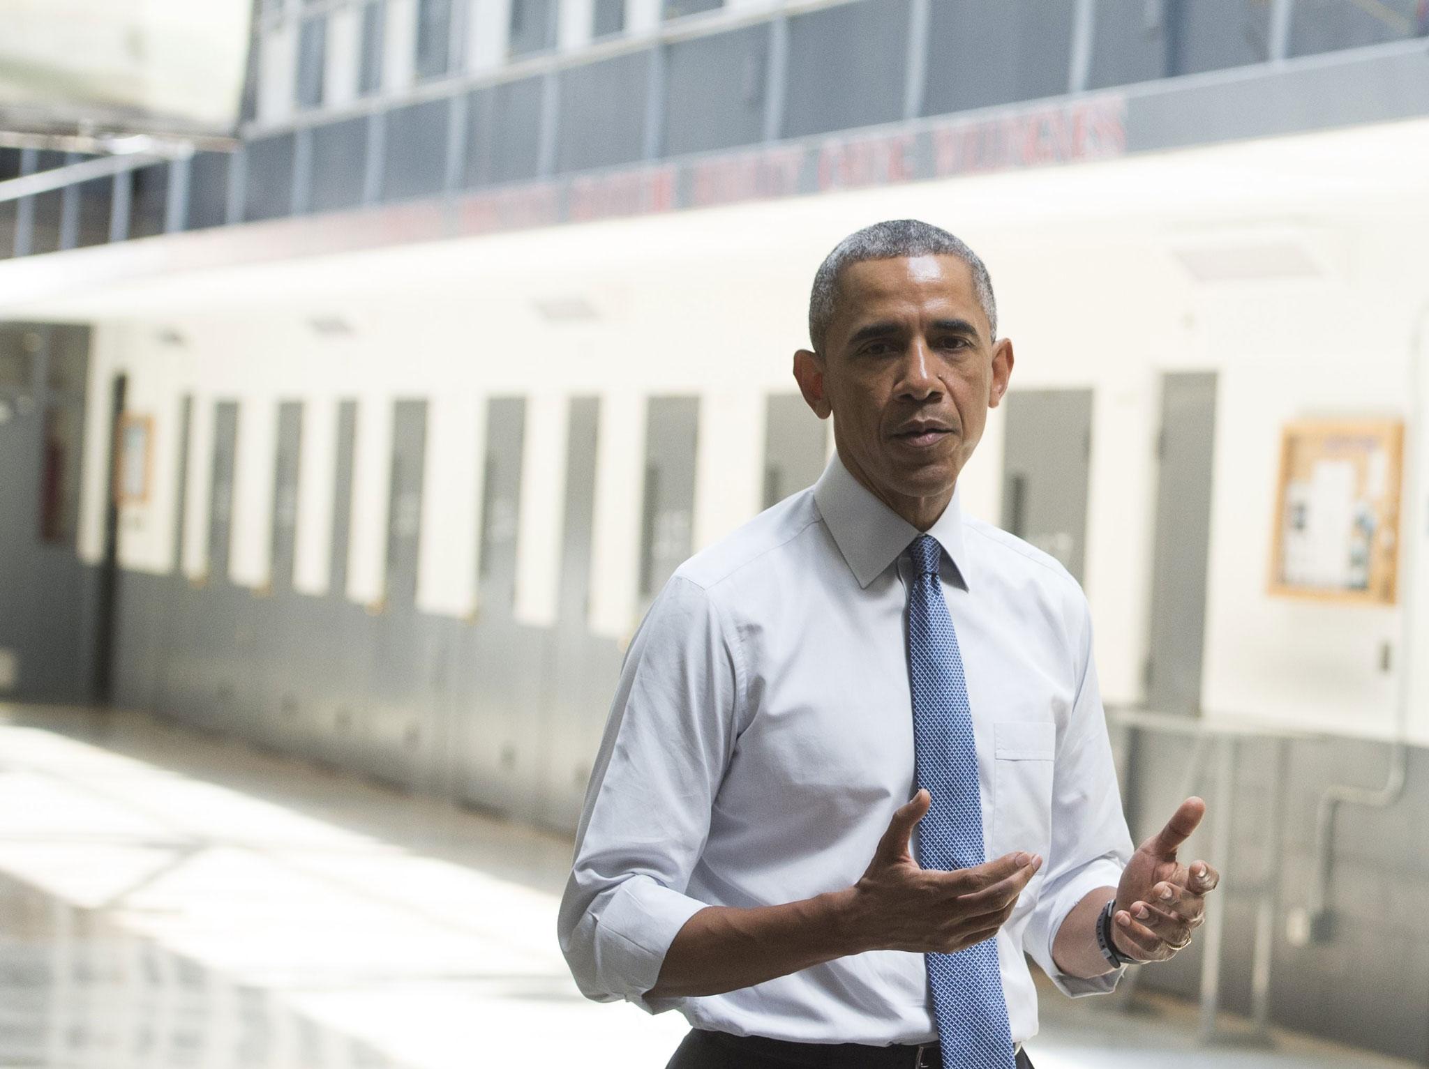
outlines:
[[953, 953], [990, 939], [1042, 868], [1042, 858], [1022, 852], [955, 872], [919, 868], [907, 841], [932, 804], [932, 795], [919, 791], [893, 814], [852, 888], [852, 935], [866, 951]]

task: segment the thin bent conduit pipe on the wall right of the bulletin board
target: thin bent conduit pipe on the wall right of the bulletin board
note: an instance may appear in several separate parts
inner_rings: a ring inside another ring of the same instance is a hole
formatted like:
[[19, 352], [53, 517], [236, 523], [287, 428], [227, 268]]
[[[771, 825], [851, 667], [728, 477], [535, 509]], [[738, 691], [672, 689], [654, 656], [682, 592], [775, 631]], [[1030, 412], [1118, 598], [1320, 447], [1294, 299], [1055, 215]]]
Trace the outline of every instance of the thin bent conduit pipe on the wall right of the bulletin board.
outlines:
[[1412, 549], [1409, 554], [1400, 552], [1405, 559], [1403, 571], [1399, 577], [1399, 589], [1405, 598], [1403, 611], [1400, 612], [1400, 639], [1399, 639], [1399, 664], [1400, 664], [1400, 678], [1399, 678], [1399, 695], [1395, 705], [1395, 729], [1389, 745], [1389, 769], [1385, 774], [1385, 785], [1380, 788], [1366, 788], [1353, 786], [1349, 784], [1335, 784], [1325, 789], [1320, 795], [1319, 805], [1315, 812], [1315, 878], [1310, 883], [1309, 895], [1309, 922], [1310, 922], [1310, 938], [1323, 939], [1328, 933], [1328, 919], [1329, 919], [1329, 886], [1335, 861], [1335, 814], [1342, 805], [1359, 805], [1368, 809], [1388, 809], [1395, 802], [1403, 796], [1405, 781], [1408, 778], [1409, 769], [1409, 746], [1406, 744], [1406, 736], [1409, 734], [1409, 702], [1412, 698], [1413, 688], [1413, 642], [1416, 639], [1416, 574], [1419, 572], [1419, 554], [1423, 547], [1415, 547], [1413, 541], [1419, 539], [1419, 532], [1415, 530], [1419, 522], [1418, 508], [1419, 498], [1423, 492], [1423, 464], [1418, 455], [1423, 444], [1420, 438], [1425, 434], [1423, 425], [1423, 385], [1420, 381], [1420, 361], [1423, 357], [1425, 344], [1425, 327], [1429, 325], [1429, 300], [1425, 300], [1419, 305], [1419, 311], [1415, 314], [1413, 327], [1409, 335], [1409, 448], [1405, 450], [1405, 458], [1408, 462], [1408, 472], [1405, 478], [1405, 485], [1409, 492], [1405, 500], [1409, 508], [1400, 507], [1399, 515], [1399, 530], [1403, 532], [1406, 528], [1410, 531], [1409, 539], [1400, 534], [1400, 547], [1409, 541]]

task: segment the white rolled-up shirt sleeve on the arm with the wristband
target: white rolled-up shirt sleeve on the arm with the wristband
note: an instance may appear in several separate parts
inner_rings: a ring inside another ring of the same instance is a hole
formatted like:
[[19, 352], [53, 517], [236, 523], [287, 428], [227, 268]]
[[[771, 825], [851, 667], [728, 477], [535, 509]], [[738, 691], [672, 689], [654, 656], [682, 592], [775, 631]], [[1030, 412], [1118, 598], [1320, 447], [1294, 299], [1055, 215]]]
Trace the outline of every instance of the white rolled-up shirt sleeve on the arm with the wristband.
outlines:
[[1052, 958], [1057, 931], [1072, 908], [1090, 892], [1116, 886], [1132, 856], [1132, 836], [1122, 812], [1116, 764], [1092, 655], [1092, 618], [1080, 591], [1076, 618], [1080, 678], [1053, 764], [1047, 875], [1025, 938], [1025, 948], [1033, 961], [1057, 991], [1073, 998], [1110, 992], [1125, 969], [1090, 979], [1062, 972]]

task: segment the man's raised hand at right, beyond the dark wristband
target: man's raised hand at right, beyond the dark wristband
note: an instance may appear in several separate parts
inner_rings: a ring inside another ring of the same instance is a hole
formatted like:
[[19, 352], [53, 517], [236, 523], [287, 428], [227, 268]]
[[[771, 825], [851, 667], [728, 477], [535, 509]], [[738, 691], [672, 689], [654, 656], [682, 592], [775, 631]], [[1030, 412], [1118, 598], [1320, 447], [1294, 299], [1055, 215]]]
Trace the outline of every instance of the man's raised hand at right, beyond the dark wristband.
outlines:
[[1186, 949], [1205, 921], [1206, 895], [1216, 889], [1220, 873], [1203, 861], [1189, 866], [1176, 861], [1176, 851], [1205, 815], [1206, 804], [1187, 798], [1132, 855], [1112, 915], [1113, 942], [1123, 958], [1163, 962]]

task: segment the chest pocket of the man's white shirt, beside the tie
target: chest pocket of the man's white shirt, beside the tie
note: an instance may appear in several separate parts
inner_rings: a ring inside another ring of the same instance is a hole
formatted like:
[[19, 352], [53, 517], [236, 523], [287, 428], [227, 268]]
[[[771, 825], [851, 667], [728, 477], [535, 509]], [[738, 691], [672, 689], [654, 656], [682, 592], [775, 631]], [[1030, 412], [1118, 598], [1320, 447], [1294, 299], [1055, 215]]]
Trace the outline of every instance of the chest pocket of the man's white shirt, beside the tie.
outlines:
[[992, 841], [987, 861], [1013, 851], [1047, 856], [1052, 845], [1052, 721], [993, 724]]

